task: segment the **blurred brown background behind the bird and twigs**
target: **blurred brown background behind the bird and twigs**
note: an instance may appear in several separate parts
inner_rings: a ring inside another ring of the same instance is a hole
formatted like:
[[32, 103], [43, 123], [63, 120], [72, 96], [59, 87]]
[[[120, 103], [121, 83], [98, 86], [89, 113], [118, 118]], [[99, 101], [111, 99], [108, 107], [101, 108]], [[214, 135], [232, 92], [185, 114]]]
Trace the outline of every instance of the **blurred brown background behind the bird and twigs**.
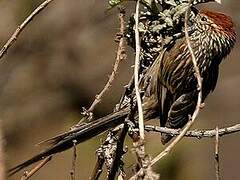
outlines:
[[[240, 2], [222, 0], [210, 9], [234, 19], [240, 34]], [[40, 4], [39, 0], [0, 1], [1, 46], [16, 27]], [[54, 1], [25, 29], [0, 64], [0, 119], [6, 139], [6, 166], [12, 167], [34, 155], [37, 142], [67, 130], [80, 119], [107, 81], [115, 59], [114, 35], [117, 11], [106, 13], [106, 1]], [[195, 128], [215, 128], [239, 123], [240, 44], [221, 66], [217, 88], [207, 100]], [[96, 116], [110, 112], [128, 82], [133, 51], [122, 62], [111, 91], [96, 109]], [[221, 175], [238, 180], [240, 134], [221, 139]], [[156, 155], [163, 146], [158, 135], [148, 135], [147, 152]], [[78, 146], [77, 179], [88, 179], [99, 138]], [[131, 143], [129, 143], [131, 147]], [[70, 179], [72, 150], [55, 156], [33, 180]], [[131, 174], [133, 156], [126, 159]], [[214, 140], [184, 139], [170, 156], [154, 167], [161, 180], [213, 180]], [[19, 179], [21, 173], [11, 179]], [[103, 178], [104, 179], [104, 178]]]

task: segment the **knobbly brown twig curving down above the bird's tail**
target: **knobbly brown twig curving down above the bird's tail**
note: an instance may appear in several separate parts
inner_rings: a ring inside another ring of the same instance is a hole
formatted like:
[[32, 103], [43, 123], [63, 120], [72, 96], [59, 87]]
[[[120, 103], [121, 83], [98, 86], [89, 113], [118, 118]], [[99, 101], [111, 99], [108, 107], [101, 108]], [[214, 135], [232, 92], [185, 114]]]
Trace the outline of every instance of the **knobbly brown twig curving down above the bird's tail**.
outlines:
[[93, 101], [92, 105], [90, 106], [90, 108], [87, 110], [88, 113], [91, 113], [94, 108], [96, 107], [97, 104], [99, 104], [103, 98], [103, 96], [105, 95], [105, 93], [110, 89], [110, 87], [112, 86], [112, 83], [115, 79], [115, 76], [117, 74], [118, 71], [118, 67], [119, 67], [119, 63], [123, 60], [126, 59], [126, 54], [125, 54], [125, 48], [124, 48], [124, 29], [125, 29], [125, 21], [124, 21], [124, 16], [125, 16], [125, 10], [122, 8], [120, 9], [120, 13], [119, 13], [119, 20], [120, 20], [120, 32], [117, 34], [119, 37], [119, 39], [117, 40], [118, 42], [118, 49], [117, 49], [117, 56], [116, 56], [116, 61], [114, 63], [113, 66], [113, 71], [111, 73], [111, 75], [109, 76], [108, 82], [106, 83], [106, 85], [104, 86], [104, 88], [102, 89], [102, 91], [96, 95], [95, 100]]

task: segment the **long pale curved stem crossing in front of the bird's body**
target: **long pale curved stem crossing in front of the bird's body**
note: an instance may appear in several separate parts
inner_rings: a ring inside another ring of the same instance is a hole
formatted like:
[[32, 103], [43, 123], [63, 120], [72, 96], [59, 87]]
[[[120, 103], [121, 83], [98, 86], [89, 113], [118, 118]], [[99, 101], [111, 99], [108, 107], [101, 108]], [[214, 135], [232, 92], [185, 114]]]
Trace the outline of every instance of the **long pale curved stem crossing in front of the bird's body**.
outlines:
[[[151, 161], [151, 166], [154, 165], [156, 162], [158, 162], [163, 157], [165, 157], [166, 155], [168, 155], [170, 153], [170, 151], [176, 146], [176, 144], [181, 141], [181, 139], [184, 137], [184, 135], [187, 133], [187, 131], [193, 125], [193, 123], [194, 123], [194, 121], [195, 121], [195, 119], [196, 119], [196, 117], [197, 117], [197, 115], [198, 115], [198, 113], [199, 113], [199, 111], [202, 107], [202, 78], [201, 78], [201, 75], [200, 75], [200, 72], [199, 72], [199, 68], [197, 66], [196, 57], [195, 57], [195, 54], [194, 54], [193, 49], [191, 47], [189, 34], [188, 34], [188, 18], [189, 18], [189, 11], [190, 11], [190, 7], [191, 7], [191, 3], [192, 3], [192, 0], [189, 0], [188, 9], [186, 10], [186, 13], [185, 13], [184, 25], [185, 25], [186, 42], [187, 42], [187, 46], [188, 46], [189, 52], [190, 52], [191, 57], [192, 57], [195, 76], [196, 76], [196, 79], [197, 79], [197, 90], [198, 90], [197, 105], [196, 105], [196, 108], [195, 108], [195, 111], [194, 111], [192, 117], [189, 117], [189, 121], [186, 124], [186, 126], [183, 128], [182, 132], [159, 155], [157, 155]], [[138, 171], [138, 173], [136, 173], [130, 179], [135, 179], [142, 171], [143, 171], [143, 169], [141, 168], [140, 171]]]

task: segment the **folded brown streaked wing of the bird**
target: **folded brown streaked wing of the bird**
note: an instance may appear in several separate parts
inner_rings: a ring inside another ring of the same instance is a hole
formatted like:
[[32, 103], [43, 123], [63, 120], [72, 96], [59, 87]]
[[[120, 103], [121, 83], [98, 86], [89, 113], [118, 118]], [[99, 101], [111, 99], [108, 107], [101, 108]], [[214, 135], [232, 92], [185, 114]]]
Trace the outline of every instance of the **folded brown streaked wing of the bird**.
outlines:
[[[161, 126], [182, 128], [197, 102], [197, 86], [191, 56], [185, 38], [179, 39], [163, 56], [158, 67], [158, 98], [161, 104]], [[187, 84], [187, 82], [195, 83]], [[162, 134], [162, 143], [172, 137]]]

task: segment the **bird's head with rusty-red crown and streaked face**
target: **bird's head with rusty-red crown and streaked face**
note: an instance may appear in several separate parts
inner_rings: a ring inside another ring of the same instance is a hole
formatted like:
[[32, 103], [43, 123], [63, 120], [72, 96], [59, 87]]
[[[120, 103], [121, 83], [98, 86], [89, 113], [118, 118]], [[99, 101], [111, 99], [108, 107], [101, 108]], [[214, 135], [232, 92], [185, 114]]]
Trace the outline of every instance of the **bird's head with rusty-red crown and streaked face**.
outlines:
[[236, 31], [231, 17], [214, 11], [200, 10], [193, 22], [195, 38], [215, 56], [225, 57], [236, 41]]

